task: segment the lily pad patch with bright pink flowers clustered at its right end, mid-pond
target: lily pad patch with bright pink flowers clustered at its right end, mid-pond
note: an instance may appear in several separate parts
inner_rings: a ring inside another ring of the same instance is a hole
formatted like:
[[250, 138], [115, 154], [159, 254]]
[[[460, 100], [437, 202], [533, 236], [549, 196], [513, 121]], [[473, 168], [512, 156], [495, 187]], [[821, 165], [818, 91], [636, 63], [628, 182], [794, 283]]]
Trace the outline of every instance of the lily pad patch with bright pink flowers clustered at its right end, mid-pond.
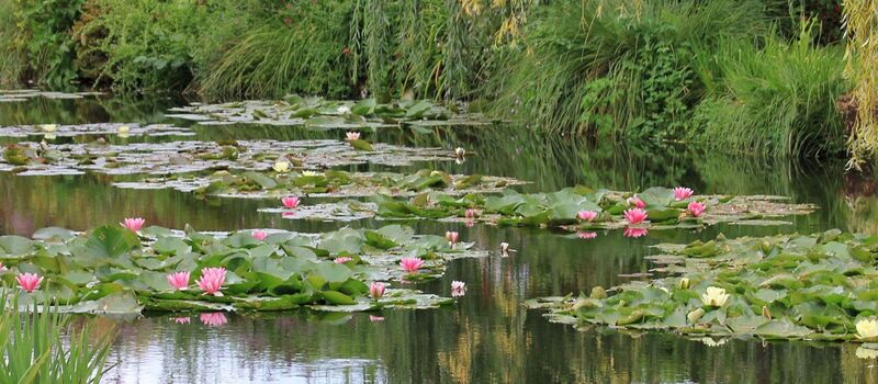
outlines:
[[[502, 195], [471, 193], [462, 197], [427, 192], [408, 200], [379, 195], [376, 216], [431, 218], [492, 225], [561, 227], [572, 231], [607, 228], [697, 228], [720, 223], [785, 224], [777, 218], [811, 213], [811, 204], [792, 204], [783, 196], [688, 195], [650, 188], [640, 193], [566, 188], [551, 193]], [[368, 208], [368, 205], [358, 208]]]

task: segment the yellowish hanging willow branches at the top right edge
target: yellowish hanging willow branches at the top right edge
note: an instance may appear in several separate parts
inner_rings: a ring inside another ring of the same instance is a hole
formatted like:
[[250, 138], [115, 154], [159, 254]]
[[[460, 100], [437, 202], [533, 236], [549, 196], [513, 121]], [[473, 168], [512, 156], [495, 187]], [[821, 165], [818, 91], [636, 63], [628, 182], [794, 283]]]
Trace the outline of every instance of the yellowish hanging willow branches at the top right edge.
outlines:
[[875, 103], [878, 101], [878, 0], [844, 0], [845, 34], [847, 36], [847, 66], [845, 75], [856, 84], [852, 104], [853, 120], [848, 145], [849, 167], [860, 168], [867, 159], [878, 155], [878, 121]]

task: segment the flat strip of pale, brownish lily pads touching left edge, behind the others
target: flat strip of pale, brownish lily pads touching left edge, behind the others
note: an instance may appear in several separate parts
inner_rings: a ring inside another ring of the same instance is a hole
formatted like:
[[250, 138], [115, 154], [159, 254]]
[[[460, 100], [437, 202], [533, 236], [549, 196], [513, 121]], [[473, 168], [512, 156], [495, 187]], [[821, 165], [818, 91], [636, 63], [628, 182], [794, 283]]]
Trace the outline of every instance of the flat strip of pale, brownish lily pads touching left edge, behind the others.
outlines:
[[[357, 143], [365, 143], [364, 145]], [[285, 163], [288, 170], [322, 169], [336, 166], [373, 163], [409, 166], [415, 161], [450, 161], [455, 157], [441, 148], [410, 148], [364, 140], [229, 140], [219, 143], [171, 142], [111, 145], [103, 140], [89, 144], [46, 145], [19, 143], [5, 148], [0, 171], [22, 176], [81, 174], [94, 171], [108, 174], [170, 174], [206, 170], [273, 169]]]

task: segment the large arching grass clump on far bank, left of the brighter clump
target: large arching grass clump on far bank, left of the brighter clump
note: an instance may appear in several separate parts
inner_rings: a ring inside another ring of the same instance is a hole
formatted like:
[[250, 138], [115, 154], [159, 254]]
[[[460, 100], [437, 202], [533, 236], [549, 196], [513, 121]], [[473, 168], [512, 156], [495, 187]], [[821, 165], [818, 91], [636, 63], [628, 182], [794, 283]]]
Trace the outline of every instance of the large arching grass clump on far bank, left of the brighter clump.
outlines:
[[549, 132], [663, 137], [685, 124], [703, 86], [693, 58], [767, 29], [758, 1], [581, 0], [553, 3], [500, 77], [500, 113]]

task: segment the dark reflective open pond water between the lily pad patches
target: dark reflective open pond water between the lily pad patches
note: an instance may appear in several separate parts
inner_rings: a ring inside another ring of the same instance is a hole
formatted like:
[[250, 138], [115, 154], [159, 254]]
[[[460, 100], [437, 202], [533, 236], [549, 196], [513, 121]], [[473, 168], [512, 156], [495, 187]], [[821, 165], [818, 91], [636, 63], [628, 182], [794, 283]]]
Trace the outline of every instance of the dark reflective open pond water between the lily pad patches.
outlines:
[[[177, 139], [340, 139], [339, 129], [274, 125], [200, 126], [164, 117], [179, 99], [30, 99], [0, 103], [0, 126], [19, 124], [171, 123], [195, 136]], [[531, 181], [520, 191], [555, 191], [584, 184], [615, 190], [685, 184], [698, 193], [778, 194], [820, 208], [783, 226], [717, 225], [700, 230], [653, 230], [628, 238], [622, 230], [599, 230], [584, 239], [567, 231], [496, 227], [483, 224], [412, 221], [417, 233], [458, 230], [475, 248], [496, 250], [503, 241], [517, 250], [481, 259], [451, 261], [441, 279], [418, 289], [450, 295], [453, 280], [466, 282], [465, 296], [439, 309], [387, 309], [333, 314], [309, 310], [191, 315], [175, 319], [150, 315], [136, 320], [102, 318], [120, 337], [110, 360], [117, 365], [108, 383], [608, 383], [608, 382], [877, 382], [875, 360], [858, 359], [855, 345], [732, 339], [719, 346], [666, 334], [620, 334], [606, 327], [577, 331], [549, 323], [528, 298], [565, 295], [594, 285], [612, 286], [646, 272], [649, 246], [688, 242], [724, 234], [773, 235], [829, 228], [878, 233], [874, 181], [844, 174], [844, 165], [757, 160], [699, 153], [695, 148], [617, 147], [570, 137], [541, 137], [513, 124], [461, 127], [376, 127], [373, 143], [464, 147], [474, 156], [462, 163], [427, 161], [410, 166], [356, 165], [349, 171], [416, 171], [436, 168]], [[31, 136], [30, 140], [38, 140]], [[59, 137], [85, 143], [93, 137]], [[173, 137], [131, 137], [128, 143], [170, 142]], [[0, 138], [14, 143], [25, 138]], [[114, 177], [15, 176], [0, 172], [0, 235], [31, 236], [61, 226], [86, 230], [143, 216], [168, 228], [187, 224], [200, 230], [282, 228], [320, 233], [351, 223], [289, 221], [258, 212], [273, 202], [247, 199], [200, 200], [175, 190], [131, 190], [111, 185]]]

